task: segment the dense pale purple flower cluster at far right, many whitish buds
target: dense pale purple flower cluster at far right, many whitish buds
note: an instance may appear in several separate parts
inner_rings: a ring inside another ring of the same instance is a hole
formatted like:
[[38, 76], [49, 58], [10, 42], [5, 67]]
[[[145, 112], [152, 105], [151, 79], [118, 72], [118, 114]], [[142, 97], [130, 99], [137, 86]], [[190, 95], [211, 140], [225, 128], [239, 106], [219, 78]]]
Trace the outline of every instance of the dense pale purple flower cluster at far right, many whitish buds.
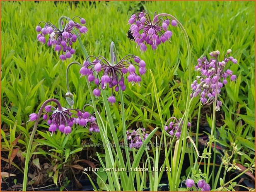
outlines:
[[[234, 81], [237, 76], [227, 68], [227, 63], [232, 61], [237, 64], [237, 59], [233, 57], [227, 57], [232, 52], [232, 50], [227, 50], [227, 53], [220, 62], [220, 52], [213, 51], [210, 52], [211, 59], [203, 57], [203, 59], [198, 59], [198, 65], [195, 67], [196, 71], [200, 71], [200, 76], [191, 84], [193, 92], [192, 97], [197, 97], [200, 95], [200, 100], [203, 104], [212, 104], [215, 100], [215, 94], [217, 97], [220, 95], [221, 88], [227, 84], [227, 77], [230, 76], [231, 81]], [[222, 102], [217, 100], [216, 111], [220, 110]]]

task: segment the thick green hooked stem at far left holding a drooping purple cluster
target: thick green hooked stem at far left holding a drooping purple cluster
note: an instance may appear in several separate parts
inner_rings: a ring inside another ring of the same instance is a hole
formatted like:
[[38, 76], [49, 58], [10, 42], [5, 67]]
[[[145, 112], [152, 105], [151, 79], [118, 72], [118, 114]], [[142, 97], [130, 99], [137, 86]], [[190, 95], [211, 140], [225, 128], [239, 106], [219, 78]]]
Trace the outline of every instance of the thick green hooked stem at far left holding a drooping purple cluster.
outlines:
[[32, 144], [33, 144], [33, 139], [34, 139], [34, 136], [36, 134], [36, 128], [37, 128], [37, 125], [39, 123], [40, 116], [41, 116], [41, 114], [43, 112], [43, 108], [46, 107], [46, 104], [48, 104], [49, 102], [56, 102], [56, 104], [58, 106], [58, 110], [59, 111], [63, 110], [63, 108], [61, 107], [60, 103], [56, 99], [48, 99], [45, 102], [43, 102], [43, 104], [41, 105], [41, 107], [39, 109], [39, 112], [37, 114], [37, 119], [35, 121], [32, 133], [30, 135], [29, 144], [27, 146], [27, 154], [26, 154], [25, 166], [24, 166], [24, 177], [23, 177], [22, 191], [26, 191], [27, 190], [27, 176], [28, 176], [29, 160], [31, 158], [31, 156], [30, 156], [31, 154], [30, 153], [31, 153], [31, 147], [32, 147]]

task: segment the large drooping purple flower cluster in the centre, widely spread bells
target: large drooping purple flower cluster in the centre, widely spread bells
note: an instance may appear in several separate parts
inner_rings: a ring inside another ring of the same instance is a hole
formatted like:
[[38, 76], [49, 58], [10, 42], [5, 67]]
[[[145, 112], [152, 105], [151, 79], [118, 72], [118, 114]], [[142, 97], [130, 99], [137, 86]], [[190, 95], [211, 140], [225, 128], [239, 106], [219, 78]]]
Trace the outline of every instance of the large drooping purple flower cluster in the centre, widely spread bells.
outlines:
[[[92, 57], [94, 60], [89, 62], [88, 59]], [[134, 62], [130, 62], [130, 59], [134, 59]], [[82, 75], [88, 76], [90, 82], [94, 81], [97, 85], [97, 88], [93, 90], [93, 94], [97, 97], [100, 96], [101, 89], [106, 89], [107, 85], [112, 89], [112, 94], [108, 98], [108, 101], [113, 104], [116, 102], [114, 96], [114, 91], [126, 90], [126, 85], [124, 84], [124, 75], [129, 72], [128, 82], [140, 83], [141, 78], [135, 72], [135, 66], [139, 67], [140, 75], [145, 74], [146, 72], [146, 63], [141, 60], [139, 57], [134, 55], [126, 55], [116, 64], [111, 64], [107, 59], [102, 56], [95, 57], [89, 56], [83, 63], [83, 67], [80, 69]]]

